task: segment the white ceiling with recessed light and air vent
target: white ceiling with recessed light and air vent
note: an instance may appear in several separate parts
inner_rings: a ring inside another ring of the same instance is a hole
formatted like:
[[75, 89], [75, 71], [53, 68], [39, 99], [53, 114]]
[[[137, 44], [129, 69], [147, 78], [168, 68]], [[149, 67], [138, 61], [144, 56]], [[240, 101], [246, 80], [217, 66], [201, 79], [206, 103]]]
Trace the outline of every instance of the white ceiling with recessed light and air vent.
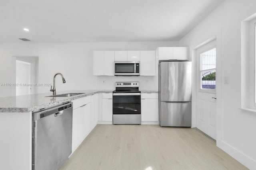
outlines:
[[223, 1], [1, 0], [0, 42], [176, 41]]

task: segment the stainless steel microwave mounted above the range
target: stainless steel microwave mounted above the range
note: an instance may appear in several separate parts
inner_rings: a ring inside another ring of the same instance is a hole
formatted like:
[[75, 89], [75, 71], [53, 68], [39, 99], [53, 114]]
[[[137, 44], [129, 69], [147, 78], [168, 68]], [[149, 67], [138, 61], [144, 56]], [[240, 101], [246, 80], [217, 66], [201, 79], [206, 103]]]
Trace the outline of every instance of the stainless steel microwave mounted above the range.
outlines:
[[139, 61], [115, 61], [115, 76], [139, 76]]

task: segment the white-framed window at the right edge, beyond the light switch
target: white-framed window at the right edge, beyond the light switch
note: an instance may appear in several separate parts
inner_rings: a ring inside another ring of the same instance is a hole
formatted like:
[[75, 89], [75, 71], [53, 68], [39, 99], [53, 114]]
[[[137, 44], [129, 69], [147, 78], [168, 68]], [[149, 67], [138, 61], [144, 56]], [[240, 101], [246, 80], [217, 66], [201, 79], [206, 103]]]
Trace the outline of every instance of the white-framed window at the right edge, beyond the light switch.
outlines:
[[256, 112], [256, 14], [241, 23], [241, 109]]

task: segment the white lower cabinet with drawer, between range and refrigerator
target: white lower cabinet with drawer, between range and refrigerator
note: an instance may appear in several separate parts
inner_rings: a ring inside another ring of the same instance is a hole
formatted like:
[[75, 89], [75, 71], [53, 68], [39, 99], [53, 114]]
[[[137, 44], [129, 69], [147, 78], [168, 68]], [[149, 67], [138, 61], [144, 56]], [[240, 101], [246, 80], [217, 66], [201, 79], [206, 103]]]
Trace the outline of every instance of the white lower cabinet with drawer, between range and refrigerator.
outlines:
[[141, 94], [141, 121], [158, 121], [158, 94]]

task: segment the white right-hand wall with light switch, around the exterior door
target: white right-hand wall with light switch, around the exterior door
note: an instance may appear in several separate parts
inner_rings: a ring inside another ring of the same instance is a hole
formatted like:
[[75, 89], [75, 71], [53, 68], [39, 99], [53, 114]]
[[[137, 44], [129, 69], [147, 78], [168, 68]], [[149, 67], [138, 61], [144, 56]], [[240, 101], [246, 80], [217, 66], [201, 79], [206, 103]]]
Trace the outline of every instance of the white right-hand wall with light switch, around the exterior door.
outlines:
[[[220, 42], [221, 73], [217, 76], [221, 76], [221, 84], [217, 89], [220, 94], [217, 94], [217, 100], [220, 101], [217, 106], [217, 146], [250, 169], [256, 169], [256, 113], [239, 109], [241, 21], [256, 13], [255, 6], [255, 0], [225, 0], [179, 41], [180, 46], [190, 47], [190, 57], [193, 49], [204, 41], [217, 37]], [[193, 57], [192, 62], [196, 63]], [[195, 69], [193, 71], [197, 74]], [[224, 76], [229, 76], [229, 84], [223, 84]]]

